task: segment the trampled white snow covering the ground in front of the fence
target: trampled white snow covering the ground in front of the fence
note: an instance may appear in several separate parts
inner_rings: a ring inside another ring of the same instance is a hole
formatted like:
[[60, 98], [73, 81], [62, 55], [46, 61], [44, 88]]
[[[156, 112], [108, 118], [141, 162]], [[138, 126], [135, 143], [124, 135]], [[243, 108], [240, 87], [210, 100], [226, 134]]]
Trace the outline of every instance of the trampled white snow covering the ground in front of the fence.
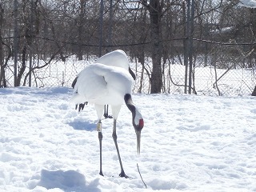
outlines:
[[[141, 154], [130, 110], [118, 117], [118, 144], [129, 178], [119, 178], [112, 119], [78, 113], [72, 90], [0, 89], [0, 191], [256, 191], [255, 98], [134, 94], [142, 112]], [[137, 163], [146, 183], [138, 174]]]

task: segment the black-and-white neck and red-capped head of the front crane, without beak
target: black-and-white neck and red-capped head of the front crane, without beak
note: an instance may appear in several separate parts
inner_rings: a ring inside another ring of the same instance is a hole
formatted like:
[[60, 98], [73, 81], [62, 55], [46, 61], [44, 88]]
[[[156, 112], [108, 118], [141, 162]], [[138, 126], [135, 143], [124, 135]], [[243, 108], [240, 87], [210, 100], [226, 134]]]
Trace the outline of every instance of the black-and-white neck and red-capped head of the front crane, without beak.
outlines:
[[131, 111], [132, 115], [133, 115], [133, 126], [135, 130], [142, 130], [143, 126], [144, 126], [144, 121], [142, 118], [142, 114], [138, 111], [137, 107], [134, 106], [134, 102], [131, 98], [130, 94], [126, 94], [125, 97], [125, 102], [126, 102], [126, 106], [128, 107], [128, 109]]

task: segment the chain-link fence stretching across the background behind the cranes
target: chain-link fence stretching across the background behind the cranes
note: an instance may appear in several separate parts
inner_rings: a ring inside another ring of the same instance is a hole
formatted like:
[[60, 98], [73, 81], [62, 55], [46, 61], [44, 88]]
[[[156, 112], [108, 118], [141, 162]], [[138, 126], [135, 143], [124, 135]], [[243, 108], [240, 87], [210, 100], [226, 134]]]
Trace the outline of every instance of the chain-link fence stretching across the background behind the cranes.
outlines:
[[[151, 25], [143, 1], [104, 1], [102, 19], [100, 1], [14, 2], [0, 0], [0, 86], [15, 86], [14, 75], [16, 86], [71, 86], [99, 53], [122, 49], [137, 75], [134, 92], [150, 93]], [[238, 1], [198, 1], [195, 10], [202, 13], [195, 11], [193, 46], [187, 46], [189, 2], [164, 1], [161, 10], [162, 93], [250, 95], [256, 85], [255, 9]]]

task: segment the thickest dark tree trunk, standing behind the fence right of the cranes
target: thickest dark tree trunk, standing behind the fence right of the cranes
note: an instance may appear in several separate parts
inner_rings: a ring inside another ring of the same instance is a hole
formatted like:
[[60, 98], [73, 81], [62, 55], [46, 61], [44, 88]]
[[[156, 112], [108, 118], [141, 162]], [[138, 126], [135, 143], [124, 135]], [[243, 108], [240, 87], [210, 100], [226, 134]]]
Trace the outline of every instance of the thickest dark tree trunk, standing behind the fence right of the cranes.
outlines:
[[161, 93], [162, 90], [162, 41], [161, 41], [161, 17], [162, 6], [160, 0], [150, 0], [150, 30], [151, 30], [151, 57], [153, 70], [150, 78], [150, 93]]

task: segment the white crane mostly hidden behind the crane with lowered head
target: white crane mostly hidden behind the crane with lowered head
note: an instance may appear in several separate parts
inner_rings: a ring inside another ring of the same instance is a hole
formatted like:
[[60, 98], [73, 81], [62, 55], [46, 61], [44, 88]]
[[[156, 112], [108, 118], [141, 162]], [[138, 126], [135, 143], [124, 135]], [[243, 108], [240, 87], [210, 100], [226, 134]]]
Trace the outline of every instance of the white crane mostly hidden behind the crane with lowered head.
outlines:
[[[108, 54], [104, 54], [101, 58], [98, 58], [94, 63], [102, 63], [106, 66], [117, 66], [121, 67], [125, 70], [128, 70], [130, 75], [136, 79], [136, 76], [134, 72], [130, 69], [129, 61], [127, 58], [126, 53], [123, 50], [114, 50]], [[74, 88], [74, 84], [77, 81], [77, 78], [74, 79], [74, 82], [72, 83], [72, 87]], [[87, 105], [88, 102], [80, 103], [76, 106], [76, 109], [78, 108], [78, 111], [83, 110], [84, 106]], [[105, 118], [112, 118], [108, 114], [108, 105], [104, 106], [104, 117]]]

